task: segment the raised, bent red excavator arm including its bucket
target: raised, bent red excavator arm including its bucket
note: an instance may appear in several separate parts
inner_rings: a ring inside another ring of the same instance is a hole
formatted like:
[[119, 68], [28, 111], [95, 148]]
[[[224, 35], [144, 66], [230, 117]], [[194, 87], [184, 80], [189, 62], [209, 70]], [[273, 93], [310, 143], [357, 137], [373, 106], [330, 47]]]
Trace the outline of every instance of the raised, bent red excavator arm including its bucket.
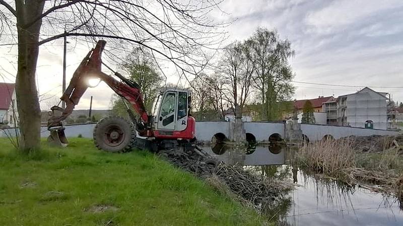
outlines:
[[[140, 86], [132, 81], [127, 80], [120, 73], [114, 72], [115, 76], [121, 81], [114, 79], [112, 76], [102, 72], [101, 55], [105, 47], [106, 41], [100, 40], [94, 49], [90, 50], [87, 56], [81, 61], [80, 65], [73, 74], [69, 86], [61, 96], [60, 100], [66, 103], [66, 108], [53, 106], [52, 112], [48, 120], [48, 130], [51, 132], [53, 139], [60, 140], [61, 143], [67, 143], [64, 136], [64, 127], [61, 123], [74, 110], [89, 87], [90, 79], [100, 79], [105, 82], [117, 95], [127, 100], [133, 109], [140, 115], [140, 119], [144, 126], [150, 124], [149, 115], [144, 107], [143, 96]], [[57, 113], [56, 113], [57, 112]]]

